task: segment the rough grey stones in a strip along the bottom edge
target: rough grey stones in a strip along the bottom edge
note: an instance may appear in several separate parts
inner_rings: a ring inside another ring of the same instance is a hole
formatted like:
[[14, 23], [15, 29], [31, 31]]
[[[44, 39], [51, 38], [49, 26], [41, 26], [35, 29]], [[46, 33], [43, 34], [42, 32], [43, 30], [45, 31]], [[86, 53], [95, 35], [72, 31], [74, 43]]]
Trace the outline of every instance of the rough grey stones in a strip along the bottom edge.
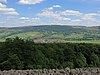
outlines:
[[4, 70], [0, 75], [100, 75], [100, 68]]

